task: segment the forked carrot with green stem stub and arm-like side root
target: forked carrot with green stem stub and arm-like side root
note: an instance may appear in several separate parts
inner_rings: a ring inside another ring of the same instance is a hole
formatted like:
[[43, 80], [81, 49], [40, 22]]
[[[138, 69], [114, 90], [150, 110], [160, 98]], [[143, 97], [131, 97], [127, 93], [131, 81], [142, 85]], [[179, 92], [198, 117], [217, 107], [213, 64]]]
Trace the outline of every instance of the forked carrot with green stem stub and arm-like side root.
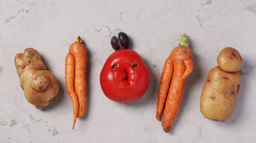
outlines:
[[184, 33], [180, 36], [179, 47], [174, 48], [166, 60], [173, 64], [167, 64], [167, 62], [164, 64], [160, 80], [156, 119], [160, 120], [160, 116], [164, 108], [162, 118], [162, 127], [164, 132], [170, 132], [171, 125], [173, 124], [180, 108], [185, 90], [186, 78], [193, 70], [192, 56], [192, 50], [188, 47], [186, 35]]

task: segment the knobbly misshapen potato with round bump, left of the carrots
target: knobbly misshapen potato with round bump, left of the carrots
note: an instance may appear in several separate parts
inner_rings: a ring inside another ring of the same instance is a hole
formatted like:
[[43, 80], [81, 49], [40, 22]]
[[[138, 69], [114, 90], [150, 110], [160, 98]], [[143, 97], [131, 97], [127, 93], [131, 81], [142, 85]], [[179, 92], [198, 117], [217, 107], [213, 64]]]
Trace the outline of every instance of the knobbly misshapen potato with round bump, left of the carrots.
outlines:
[[59, 91], [55, 76], [46, 70], [39, 53], [27, 48], [15, 56], [15, 67], [25, 98], [37, 109], [50, 104]]

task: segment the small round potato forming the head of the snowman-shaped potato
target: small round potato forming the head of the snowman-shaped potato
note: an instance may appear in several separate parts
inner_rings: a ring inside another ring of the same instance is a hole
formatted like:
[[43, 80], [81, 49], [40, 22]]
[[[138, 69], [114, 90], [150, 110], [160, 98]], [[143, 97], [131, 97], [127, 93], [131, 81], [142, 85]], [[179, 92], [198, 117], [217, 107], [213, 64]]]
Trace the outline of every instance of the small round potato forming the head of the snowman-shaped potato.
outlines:
[[217, 58], [219, 67], [227, 72], [236, 72], [243, 66], [240, 53], [231, 47], [222, 49]]

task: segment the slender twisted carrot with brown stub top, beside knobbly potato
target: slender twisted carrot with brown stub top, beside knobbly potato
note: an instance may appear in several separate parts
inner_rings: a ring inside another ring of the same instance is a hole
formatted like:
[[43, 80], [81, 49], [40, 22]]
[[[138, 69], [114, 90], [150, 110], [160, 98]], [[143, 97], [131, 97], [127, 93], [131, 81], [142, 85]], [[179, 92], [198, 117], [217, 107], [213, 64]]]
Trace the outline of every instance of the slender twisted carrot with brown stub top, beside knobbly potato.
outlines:
[[86, 47], [80, 36], [72, 43], [65, 60], [66, 90], [70, 95], [74, 110], [74, 124], [86, 110]]

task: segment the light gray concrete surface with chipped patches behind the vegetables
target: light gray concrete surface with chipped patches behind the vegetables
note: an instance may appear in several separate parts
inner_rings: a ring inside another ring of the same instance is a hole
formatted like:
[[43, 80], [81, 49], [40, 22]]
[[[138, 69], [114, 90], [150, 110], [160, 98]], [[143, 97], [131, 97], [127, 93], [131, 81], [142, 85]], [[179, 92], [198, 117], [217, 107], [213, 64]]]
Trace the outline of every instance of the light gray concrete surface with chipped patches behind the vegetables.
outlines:
[[[1, 142], [255, 142], [255, 0], [0, 0]], [[110, 39], [124, 31], [150, 70], [146, 94], [116, 103], [100, 87], [101, 68], [114, 52]], [[155, 119], [163, 64], [185, 32], [194, 52], [194, 70], [170, 133]], [[64, 83], [69, 45], [80, 35], [88, 51], [88, 108], [72, 129], [73, 112]], [[234, 47], [244, 59], [233, 116], [204, 119], [200, 95], [221, 49]], [[16, 53], [32, 47], [60, 90], [43, 110], [29, 104], [14, 66]]]

